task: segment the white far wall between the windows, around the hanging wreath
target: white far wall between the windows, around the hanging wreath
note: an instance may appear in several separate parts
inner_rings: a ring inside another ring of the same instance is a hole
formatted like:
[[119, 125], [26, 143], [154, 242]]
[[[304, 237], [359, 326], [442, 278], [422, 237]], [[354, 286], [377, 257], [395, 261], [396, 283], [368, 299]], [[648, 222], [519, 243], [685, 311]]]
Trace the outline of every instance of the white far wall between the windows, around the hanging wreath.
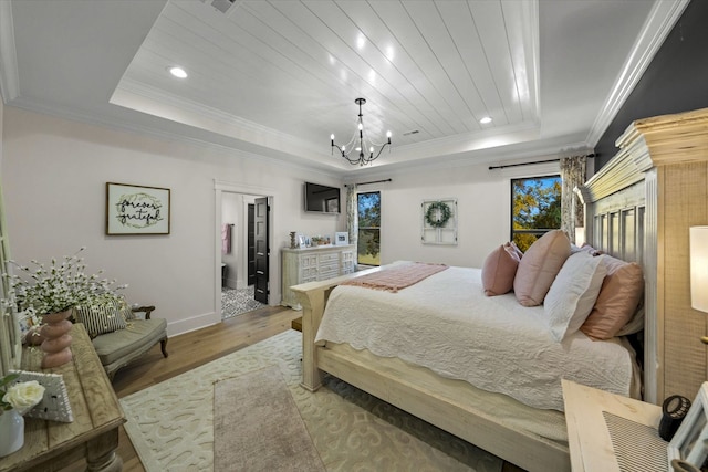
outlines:
[[[382, 192], [382, 264], [397, 260], [481, 268], [492, 249], [509, 241], [511, 179], [559, 174], [558, 164], [489, 170], [489, 165], [387, 175], [392, 182], [361, 186]], [[457, 245], [423, 244], [423, 200], [454, 198], [458, 204]]]

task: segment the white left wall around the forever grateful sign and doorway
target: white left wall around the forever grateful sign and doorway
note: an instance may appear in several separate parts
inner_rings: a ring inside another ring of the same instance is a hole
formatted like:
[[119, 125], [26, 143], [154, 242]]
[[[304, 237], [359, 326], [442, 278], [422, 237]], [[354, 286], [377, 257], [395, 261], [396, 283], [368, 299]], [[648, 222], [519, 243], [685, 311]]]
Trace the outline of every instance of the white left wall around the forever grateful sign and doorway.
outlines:
[[[218, 323], [215, 254], [220, 225], [215, 179], [274, 189], [271, 303], [280, 302], [279, 248], [289, 232], [330, 233], [343, 217], [303, 211], [305, 180], [339, 179], [235, 151], [111, 130], [4, 107], [2, 186], [13, 259], [49, 261], [85, 245], [88, 271], [128, 283], [133, 302], [155, 304], [170, 334]], [[171, 190], [169, 235], [106, 235], [106, 182]], [[319, 217], [319, 218], [317, 218]], [[218, 251], [220, 253], [220, 250]]]

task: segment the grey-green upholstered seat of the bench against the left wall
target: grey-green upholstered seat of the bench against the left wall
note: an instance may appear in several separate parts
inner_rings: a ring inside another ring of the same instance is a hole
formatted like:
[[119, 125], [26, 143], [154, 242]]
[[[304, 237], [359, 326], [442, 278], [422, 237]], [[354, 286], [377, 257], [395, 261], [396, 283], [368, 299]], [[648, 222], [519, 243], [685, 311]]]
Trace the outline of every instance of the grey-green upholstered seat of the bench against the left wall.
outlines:
[[167, 337], [165, 318], [132, 319], [125, 329], [103, 334], [92, 342], [101, 364], [106, 366], [136, 350], [149, 349], [165, 337]]

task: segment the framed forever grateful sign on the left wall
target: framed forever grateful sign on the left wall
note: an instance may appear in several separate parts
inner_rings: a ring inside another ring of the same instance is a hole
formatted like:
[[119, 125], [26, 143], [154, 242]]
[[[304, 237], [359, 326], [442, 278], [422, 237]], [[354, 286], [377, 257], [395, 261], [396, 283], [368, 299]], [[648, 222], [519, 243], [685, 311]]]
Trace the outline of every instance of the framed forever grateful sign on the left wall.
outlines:
[[169, 234], [169, 189], [106, 183], [106, 234]]

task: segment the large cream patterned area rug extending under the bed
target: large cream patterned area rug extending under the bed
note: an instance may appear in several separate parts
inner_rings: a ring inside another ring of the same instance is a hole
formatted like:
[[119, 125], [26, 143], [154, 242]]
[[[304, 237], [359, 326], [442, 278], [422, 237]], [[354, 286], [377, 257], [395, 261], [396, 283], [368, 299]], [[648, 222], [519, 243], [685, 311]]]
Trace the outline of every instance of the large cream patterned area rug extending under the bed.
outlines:
[[214, 470], [215, 382], [278, 366], [327, 471], [501, 471], [499, 458], [334, 377], [305, 390], [301, 356], [288, 331], [121, 399], [145, 469]]

